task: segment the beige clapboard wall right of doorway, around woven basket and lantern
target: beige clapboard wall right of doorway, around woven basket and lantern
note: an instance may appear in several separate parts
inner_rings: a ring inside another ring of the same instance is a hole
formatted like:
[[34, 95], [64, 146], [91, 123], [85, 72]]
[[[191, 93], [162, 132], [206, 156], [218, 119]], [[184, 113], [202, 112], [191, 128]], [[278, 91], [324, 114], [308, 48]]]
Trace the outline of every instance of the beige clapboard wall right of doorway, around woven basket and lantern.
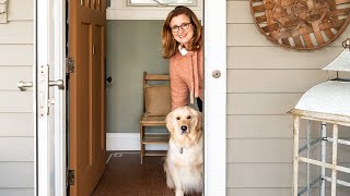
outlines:
[[295, 51], [259, 33], [248, 1], [228, 0], [226, 9], [228, 196], [291, 196], [293, 122], [287, 112], [328, 79], [320, 69], [342, 51], [350, 30], [326, 48]]

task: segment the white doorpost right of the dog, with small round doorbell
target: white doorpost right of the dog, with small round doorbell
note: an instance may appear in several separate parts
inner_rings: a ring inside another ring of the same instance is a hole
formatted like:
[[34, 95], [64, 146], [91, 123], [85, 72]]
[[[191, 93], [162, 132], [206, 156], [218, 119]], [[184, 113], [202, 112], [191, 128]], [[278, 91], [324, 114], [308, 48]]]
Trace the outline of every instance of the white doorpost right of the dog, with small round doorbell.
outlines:
[[226, 195], [226, 0], [205, 0], [205, 195]]

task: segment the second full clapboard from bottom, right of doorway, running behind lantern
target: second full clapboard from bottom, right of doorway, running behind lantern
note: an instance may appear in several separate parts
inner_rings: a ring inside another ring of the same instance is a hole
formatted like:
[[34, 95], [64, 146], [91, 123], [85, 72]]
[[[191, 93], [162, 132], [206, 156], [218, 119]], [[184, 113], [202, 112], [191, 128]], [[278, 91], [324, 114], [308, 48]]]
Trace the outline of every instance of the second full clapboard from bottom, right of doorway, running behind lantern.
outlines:
[[[347, 138], [349, 139], [349, 138]], [[305, 139], [300, 140], [300, 146], [305, 145]], [[331, 143], [327, 145], [327, 155], [331, 155]], [[293, 158], [293, 139], [228, 139], [228, 162], [233, 163], [254, 163], [254, 162], [275, 162], [290, 163]], [[338, 146], [339, 164], [350, 162], [347, 146]], [[310, 157], [319, 160], [319, 145], [311, 148]], [[305, 156], [305, 155], [302, 155]], [[331, 162], [331, 156], [327, 156], [327, 162]]]

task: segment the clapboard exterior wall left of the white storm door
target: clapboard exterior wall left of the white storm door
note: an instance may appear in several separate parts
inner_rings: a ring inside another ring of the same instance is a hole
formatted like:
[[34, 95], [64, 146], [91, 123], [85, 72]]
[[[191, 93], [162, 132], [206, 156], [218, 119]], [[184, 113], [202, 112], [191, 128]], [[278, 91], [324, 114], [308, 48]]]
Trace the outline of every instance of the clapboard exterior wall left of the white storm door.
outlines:
[[33, 0], [11, 0], [7, 24], [0, 24], [0, 195], [34, 195]]

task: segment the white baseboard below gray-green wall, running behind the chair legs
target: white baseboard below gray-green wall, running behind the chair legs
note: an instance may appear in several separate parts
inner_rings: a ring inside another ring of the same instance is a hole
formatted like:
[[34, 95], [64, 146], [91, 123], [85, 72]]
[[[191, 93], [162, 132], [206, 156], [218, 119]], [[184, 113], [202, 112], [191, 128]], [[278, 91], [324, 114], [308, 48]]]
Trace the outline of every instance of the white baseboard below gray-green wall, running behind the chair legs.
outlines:
[[[167, 145], [145, 145], [147, 150], [167, 150]], [[140, 150], [139, 133], [107, 133], [106, 150]]]

